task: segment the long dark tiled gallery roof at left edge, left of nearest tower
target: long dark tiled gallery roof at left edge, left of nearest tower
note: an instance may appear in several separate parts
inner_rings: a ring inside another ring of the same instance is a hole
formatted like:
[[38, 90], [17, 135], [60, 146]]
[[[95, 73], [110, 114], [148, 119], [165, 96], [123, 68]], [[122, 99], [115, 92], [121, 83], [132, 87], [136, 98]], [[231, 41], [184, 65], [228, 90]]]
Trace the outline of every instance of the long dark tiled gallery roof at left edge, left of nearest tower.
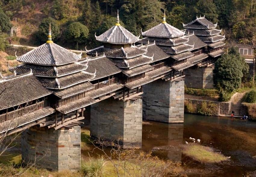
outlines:
[[13, 107], [37, 98], [50, 95], [52, 91], [44, 88], [33, 74], [21, 74], [6, 81], [0, 80], [0, 110]]

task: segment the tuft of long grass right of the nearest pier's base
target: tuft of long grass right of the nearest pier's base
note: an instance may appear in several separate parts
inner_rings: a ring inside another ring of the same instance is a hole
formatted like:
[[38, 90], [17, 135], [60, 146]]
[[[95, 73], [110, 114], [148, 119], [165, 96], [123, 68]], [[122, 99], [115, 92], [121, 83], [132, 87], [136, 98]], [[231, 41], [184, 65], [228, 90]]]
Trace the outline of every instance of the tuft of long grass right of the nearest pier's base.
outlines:
[[106, 161], [103, 158], [90, 158], [89, 162], [82, 163], [81, 171], [86, 177], [104, 176], [104, 166]]

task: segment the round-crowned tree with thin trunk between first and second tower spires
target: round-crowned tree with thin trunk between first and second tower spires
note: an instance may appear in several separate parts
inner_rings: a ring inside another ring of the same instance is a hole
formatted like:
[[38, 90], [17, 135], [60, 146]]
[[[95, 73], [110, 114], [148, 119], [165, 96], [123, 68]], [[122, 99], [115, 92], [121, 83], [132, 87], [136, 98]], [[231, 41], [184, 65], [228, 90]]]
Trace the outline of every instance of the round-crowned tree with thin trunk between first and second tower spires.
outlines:
[[80, 22], [73, 22], [65, 31], [65, 37], [69, 41], [76, 41], [76, 49], [78, 49], [78, 44], [83, 43], [88, 37], [88, 28]]

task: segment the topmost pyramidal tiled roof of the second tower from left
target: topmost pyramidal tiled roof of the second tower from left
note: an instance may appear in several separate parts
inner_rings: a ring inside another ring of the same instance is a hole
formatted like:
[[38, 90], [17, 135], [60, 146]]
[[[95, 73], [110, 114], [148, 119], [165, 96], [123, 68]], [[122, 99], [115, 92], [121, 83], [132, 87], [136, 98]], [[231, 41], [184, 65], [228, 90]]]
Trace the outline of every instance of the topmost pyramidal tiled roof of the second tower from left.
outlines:
[[139, 38], [123, 28], [121, 25], [112, 26], [103, 34], [96, 36], [99, 42], [110, 44], [132, 44], [139, 41]]

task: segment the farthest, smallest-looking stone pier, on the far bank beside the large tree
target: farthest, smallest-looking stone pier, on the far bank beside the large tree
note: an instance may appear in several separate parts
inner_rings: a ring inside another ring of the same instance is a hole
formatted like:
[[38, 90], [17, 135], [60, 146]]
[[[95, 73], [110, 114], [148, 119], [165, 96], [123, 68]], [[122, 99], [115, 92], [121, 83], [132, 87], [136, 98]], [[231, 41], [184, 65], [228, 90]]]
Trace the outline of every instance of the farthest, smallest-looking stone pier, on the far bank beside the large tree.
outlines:
[[191, 88], [214, 88], [214, 66], [191, 67], [185, 70], [185, 84]]

